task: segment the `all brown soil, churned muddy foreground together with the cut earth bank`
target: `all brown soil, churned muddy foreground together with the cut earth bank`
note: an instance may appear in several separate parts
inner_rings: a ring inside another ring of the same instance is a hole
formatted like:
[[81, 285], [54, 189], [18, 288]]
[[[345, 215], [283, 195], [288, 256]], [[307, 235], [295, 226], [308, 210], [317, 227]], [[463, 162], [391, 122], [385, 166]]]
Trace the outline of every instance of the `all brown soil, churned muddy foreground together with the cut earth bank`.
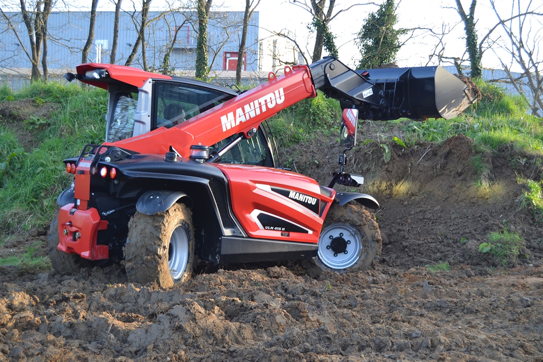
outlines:
[[[381, 204], [373, 270], [228, 265], [161, 289], [128, 283], [115, 265], [75, 276], [1, 268], [0, 361], [543, 361], [543, 229], [516, 201], [517, 174], [539, 180], [541, 169], [472, 143], [397, 146], [387, 163], [375, 142], [348, 154], [346, 171]], [[341, 151], [332, 137], [288, 157], [327, 185]], [[478, 252], [504, 227], [525, 239], [505, 265]], [[451, 270], [427, 268], [445, 262]]]

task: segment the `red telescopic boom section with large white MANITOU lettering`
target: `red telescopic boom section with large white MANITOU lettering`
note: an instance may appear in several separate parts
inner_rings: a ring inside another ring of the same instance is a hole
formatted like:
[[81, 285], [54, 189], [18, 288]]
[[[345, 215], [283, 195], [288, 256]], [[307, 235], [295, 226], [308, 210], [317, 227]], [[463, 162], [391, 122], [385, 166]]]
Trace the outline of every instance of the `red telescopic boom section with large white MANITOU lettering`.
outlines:
[[106, 144], [142, 154], [165, 154], [172, 145], [181, 156], [188, 157], [193, 144], [211, 146], [231, 135], [240, 132], [247, 134], [275, 113], [302, 99], [315, 96], [317, 92], [309, 68], [294, 66], [292, 70], [286, 70], [284, 75], [270, 77], [267, 83], [171, 129], [160, 128], [146, 135]]

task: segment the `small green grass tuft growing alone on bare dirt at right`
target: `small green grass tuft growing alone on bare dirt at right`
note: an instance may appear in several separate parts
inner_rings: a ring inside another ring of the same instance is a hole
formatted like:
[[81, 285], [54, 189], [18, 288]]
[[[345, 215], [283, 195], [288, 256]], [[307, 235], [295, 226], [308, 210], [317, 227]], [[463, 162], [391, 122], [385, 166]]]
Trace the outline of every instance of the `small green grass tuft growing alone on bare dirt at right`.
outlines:
[[520, 251], [526, 245], [521, 234], [510, 232], [507, 227], [502, 231], [491, 232], [488, 238], [489, 242], [479, 244], [479, 252], [489, 253], [503, 266], [516, 262]]

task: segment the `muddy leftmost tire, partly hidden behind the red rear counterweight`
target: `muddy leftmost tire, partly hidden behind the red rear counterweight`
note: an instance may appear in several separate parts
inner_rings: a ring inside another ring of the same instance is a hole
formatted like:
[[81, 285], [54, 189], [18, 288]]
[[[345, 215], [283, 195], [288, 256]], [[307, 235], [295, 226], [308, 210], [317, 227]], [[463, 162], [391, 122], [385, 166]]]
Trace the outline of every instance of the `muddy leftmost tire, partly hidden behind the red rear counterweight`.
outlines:
[[57, 249], [59, 245], [59, 212], [55, 213], [47, 232], [47, 245], [51, 265], [59, 274], [77, 274], [81, 268], [89, 266], [89, 261], [77, 254], [70, 254]]

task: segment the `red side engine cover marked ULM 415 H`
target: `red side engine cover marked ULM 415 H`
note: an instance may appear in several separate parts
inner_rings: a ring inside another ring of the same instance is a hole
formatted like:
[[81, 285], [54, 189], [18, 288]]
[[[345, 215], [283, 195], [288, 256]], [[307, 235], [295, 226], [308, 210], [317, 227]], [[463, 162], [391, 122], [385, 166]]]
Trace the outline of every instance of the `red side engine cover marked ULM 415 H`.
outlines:
[[[236, 200], [232, 202], [233, 212], [250, 237], [315, 244], [318, 242], [324, 215], [335, 196], [334, 190], [331, 190], [330, 197], [321, 195], [317, 181], [285, 170], [234, 164], [217, 164], [217, 167], [229, 181], [231, 199]], [[289, 198], [288, 193], [282, 195], [275, 192], [276, 189], [293, 192], [292, 195], [306, 195], [307, 200], [310, 200], [306, 204], [316, 204], [317, 212], [305, 207], [304, 202]], [[325, 202], [324, 210], [320, 210], [320, 201]], [[261, 212], [295, 224], [305, 231], [284, 232], [263, 227], [256, 218]]]

